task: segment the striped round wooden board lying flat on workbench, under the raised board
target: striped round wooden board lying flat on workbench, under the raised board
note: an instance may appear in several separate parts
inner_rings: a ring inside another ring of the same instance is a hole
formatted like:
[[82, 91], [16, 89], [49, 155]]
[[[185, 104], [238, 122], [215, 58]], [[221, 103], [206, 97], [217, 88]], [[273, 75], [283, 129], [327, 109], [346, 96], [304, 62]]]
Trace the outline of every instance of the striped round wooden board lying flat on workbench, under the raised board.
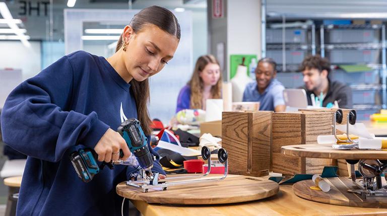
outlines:
[[360, 194], [348, 192], [348, 189], [358, 189], [358, 187], [347, 177], [325, 178], [324, 180], [331, 185], [331, 190], [327, 193], [310, 189], [310, 186], [314, 186], [314, 182], [310, 179], [295, 183], [293, 185], [294, 193], [304, 199], [334, 205], [372, 208], [387, 207], [387, 199], [385, 197], [364, 199]]

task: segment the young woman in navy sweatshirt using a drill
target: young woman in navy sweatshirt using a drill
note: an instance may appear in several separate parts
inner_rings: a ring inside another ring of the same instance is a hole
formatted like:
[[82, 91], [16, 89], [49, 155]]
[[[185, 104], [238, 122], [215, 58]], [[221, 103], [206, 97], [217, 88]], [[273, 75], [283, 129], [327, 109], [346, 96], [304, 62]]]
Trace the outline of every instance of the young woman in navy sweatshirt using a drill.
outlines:
[[[18, 215], [121, 214], [122, 197], [115, 186], [136, 169], [105, 168], [84, 183], [69, 155], [74, 148], [89, 147], [98, 161], [118, 159], [119, 149], [123, 159], [130, 156], [115, 130], [124, 120], [137, 118], [150, 134], [148, 78], [172, 59], [179, 39], [176, 17], [149, 7], [123, 29], [113, 56], [71, 53], [11, 92], [1, 115], [3, 139], [28, 155]], [[157, 160], [153, 172], [165, 174]]]

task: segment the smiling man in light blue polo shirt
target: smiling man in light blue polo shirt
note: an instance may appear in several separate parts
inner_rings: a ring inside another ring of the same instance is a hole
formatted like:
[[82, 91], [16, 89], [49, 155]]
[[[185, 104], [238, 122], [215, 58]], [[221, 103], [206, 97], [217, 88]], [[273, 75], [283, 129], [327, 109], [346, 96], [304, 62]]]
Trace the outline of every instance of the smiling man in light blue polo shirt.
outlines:
[[246, 85], [243, 101], [259, 101], [260, 110], [284, 112], [286, 109], [283, 91], [285, 87], [276, 78], [276, 62], [264, 58], [255, 69], [256, 82]]

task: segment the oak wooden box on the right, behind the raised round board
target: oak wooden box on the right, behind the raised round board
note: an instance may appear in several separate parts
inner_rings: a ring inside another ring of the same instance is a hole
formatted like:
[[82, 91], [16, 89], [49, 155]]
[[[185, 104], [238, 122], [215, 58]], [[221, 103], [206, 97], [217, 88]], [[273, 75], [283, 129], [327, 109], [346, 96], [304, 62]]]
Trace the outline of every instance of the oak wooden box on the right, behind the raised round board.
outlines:
[[331, 112], [273, 113], [272, 171], [286, 175], [320, 174], [332, 159], [287, 156], [281, 153], [285, 145], [314, 144], [318, 135], [332, 134]]

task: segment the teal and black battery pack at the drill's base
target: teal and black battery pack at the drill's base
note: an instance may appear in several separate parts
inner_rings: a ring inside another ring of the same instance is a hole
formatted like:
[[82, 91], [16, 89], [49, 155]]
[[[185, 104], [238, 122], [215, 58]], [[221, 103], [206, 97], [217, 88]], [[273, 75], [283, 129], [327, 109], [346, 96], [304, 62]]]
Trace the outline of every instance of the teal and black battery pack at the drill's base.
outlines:
[[100, 168], [95, 160], [97, 156], [90, 148], [79, 149], [70, 154], [70, 161], [82, 181], [90, 182], [99, 173]]

